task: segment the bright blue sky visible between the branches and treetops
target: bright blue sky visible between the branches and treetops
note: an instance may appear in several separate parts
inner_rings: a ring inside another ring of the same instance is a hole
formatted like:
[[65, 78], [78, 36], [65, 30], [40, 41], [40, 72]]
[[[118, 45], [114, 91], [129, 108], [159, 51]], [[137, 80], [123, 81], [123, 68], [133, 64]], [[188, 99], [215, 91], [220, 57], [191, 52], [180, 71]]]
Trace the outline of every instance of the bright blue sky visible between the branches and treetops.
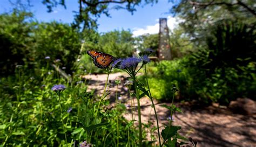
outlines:
[[[0, 13], [9, 12], [14, 8], [11, 2], [16, 0], [0, 0]], [[22, 0], [26, 2], [26, 0]], [[73, 21], [73, 11], [78, 11], [79, 4], [76, 0], [66, 0], [66, 9], [63, 6], [58, 6], [53, 9], [53, 12], [48, 13], [46, 6], [42, 4], [41, 0], [30, 0], [32, 8], [30, 10], [34, 13], [35, 18], [39, 22], [50, 22], [52, 20], [62, 21], [64, 23], [71, 23]], [[137, 6], [137, 11], [133, 15], [127, 10], [110, 10], [111, 17], [102, 15], [98, 19], [98, 31], [109, 32], [112, 30], [128, 30], [130, 29], [134, 36], [144, 33], [157, 33], [159, 30], [158, 19], [168, 18], [169, 27], [174, 27], [177, 22], [176, 18], [172, 18], [168, 13], [172, 4], [167, 0], [160, 0], [158, 3], [144, 6]]]

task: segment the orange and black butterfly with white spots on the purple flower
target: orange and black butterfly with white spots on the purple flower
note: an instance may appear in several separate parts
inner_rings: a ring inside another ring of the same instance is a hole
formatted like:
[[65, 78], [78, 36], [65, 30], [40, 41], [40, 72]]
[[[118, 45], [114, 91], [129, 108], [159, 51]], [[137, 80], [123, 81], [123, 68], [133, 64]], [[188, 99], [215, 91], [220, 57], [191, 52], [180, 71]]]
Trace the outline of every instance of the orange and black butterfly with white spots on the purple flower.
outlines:
[[89, 54], [92, 57], [93, 64], [95, 64], [99, 68], [107, 68], [114, 60], [117, 59], [110, 54], [94, 50], [88, 50], [87, 54]]

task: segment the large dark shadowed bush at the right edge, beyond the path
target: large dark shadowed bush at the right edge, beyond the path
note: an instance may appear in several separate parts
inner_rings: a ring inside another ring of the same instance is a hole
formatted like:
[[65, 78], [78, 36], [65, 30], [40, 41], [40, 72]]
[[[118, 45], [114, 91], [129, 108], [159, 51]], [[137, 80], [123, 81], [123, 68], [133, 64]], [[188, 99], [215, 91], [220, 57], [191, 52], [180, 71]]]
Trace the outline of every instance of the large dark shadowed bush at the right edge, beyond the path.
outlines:
[[227, 104], [237, 97], [255, 97], [254, 30], [255, 25], [218, 22], [206, 37], [207, 46], [188, 58], [192, 85], [204, 101]]

